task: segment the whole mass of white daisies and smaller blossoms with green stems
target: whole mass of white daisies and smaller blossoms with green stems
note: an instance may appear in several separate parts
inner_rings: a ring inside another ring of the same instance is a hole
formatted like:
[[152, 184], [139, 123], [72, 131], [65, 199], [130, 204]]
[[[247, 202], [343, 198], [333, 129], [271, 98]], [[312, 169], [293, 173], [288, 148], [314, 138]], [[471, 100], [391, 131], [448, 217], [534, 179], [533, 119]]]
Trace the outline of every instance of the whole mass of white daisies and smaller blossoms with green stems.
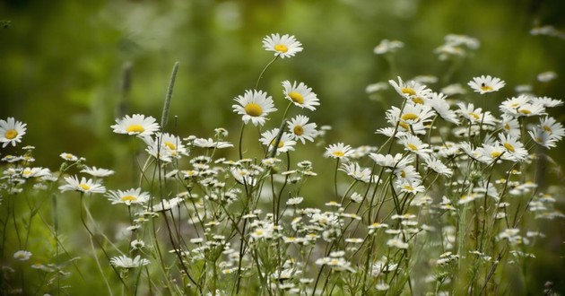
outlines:
[[[448, 35], [436, 53], [448, 60], [479, 46], [477, 39]], [[266, 36], [263, 48], [274, 59], [259, 78], [275, 61], [303, 50], [288, 34]], [[402, 48], [401, 41], [383, 40], [374, 52], [392, 57]], [[491, 110], [484, 99], [498, 96], [506, 87], [502, 79], [481, 75], [466, 84], [429, 86], [439, 81], [424, 75], [371, 84], [369, 93], [392, 88], [387, 96], [397, 102], [371, 135], [380, 145], [327, 144], [319, 154], [332, 178], [318, 188], [320, 196], [303, 190], [321, 177], [313, 161], [295, 155], [306, 145], [318, 149], [331, 127], [309, 118], [321, 105], [317, 93], [289, 80], [277, 82], [281, 89], [273, 93], [259, 89], [258, 80], [234, 96], [239, 133], [219, 127], [212, 137], [181, 136], [151, 116], [117, 118], [111, 130], [141, 147], [135, 186], [111, 185], [105, 180], [114, 170], [69, 152], [59, 155], [56, 172], [33, 167], [33, 147], [24, 146], [21, 155], [2, 157], [1, 193], [12, 208], [20, 202], [13, 196], [30, 188], [54, 201], [80, 196], [84, 235], [99, 266], [106, 260], [114, 272], [104, 276], [129, 292], [372, 295], [417, 286], [488, 293], [482, 289], [508, 280], [507, 263], [535, 258], [531, 247], [545, 236], [535, 221], [563, 217], [554, 205], [559, 186], [539, 184], [551, 176], [536, 169], [565, 135], [551, 115], [562, 101], [521, 87]], [[26, 131], [14, 118], [0, 120], [3, 149], [21, 144]], [[103, 196], [104, 206], [121, 213], [109, 226], [113, 237], [97, 232], [94, 225], [102, 222], [90, 213], [98, 202], [91, 196]], [[42, 205], [26, 203], [29, 215]], [[11, 260], [25, 265], [37, 251], [32, 255], [22, 242], [20, 223], [10, 225], [20, 242]], [[53, 236], [58, 242], [56, 231]], [[62, 266], [57, 258], [30, 262], [53, 274], [64, 274]]]

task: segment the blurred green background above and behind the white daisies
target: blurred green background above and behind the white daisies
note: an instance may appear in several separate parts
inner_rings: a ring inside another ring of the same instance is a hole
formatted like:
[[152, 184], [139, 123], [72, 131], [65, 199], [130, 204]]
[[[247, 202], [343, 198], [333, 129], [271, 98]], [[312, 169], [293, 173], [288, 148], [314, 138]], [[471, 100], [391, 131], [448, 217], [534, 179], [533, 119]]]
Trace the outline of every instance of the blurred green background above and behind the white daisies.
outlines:
[[[449, 81], [430, 84], [433, 90], [491, 74], [507, 86], [486, 100], [471, 92], [468, 98], [495, 114], [519, 84], [565, 99], [565, 35], [530, 33], [545, 25], [565, 31], [564, 13], [562, 0], [4, 0], [0, 20], [10, 23], [0, 28], [0, 118], [28, 124], [24, 144], [37, 147], [38, 166], [57, 170], [57, 155], [72, 152], [114, 169], [127, 141], [109, 126], [120, 114], [160, 118], [178, 61], [170, 111], [178, 118], [167, 129], [182, 137], [208, 137], [213, 128], [225, 127], [236, 142], [241, 121], [231, 111], [232, 99], [254, 87], [273, 58], [261, 40], [278, 32], [294, 35], [304, 50], [274, 63], [259, 89], [283, 109], [281, 82], [307, 83], [321, 100], [308, 114], [311, 120], [333, 126], [328, 143], [378, 145], [384, 139], [374, 131], [384, 127], [385, 110], [400, 100], [393, 90], [371, 100], [366, 86], [397, 75], [441, 77], [450, 65], [433, 50], [450, 33], [479, 39], [481, 47]], [[381, 39], [404, 42], [395, 68], [373, 53]], [[558, 78], [538, 82], [536, 75], [545, 71]], [[564, 122], [564, 111], [553, 109], [552, 116]], [[304, 158], [321, 151], [311, 148]], [[563, 144], [552, 150], [561, 164], [564, 151]], [[562, 257], [554, 261], [563, 254], [565, 225], [558, 223], [549, 255], [532, 266], [539, 272], [533, 275], [536, 284], [563, 266]]]

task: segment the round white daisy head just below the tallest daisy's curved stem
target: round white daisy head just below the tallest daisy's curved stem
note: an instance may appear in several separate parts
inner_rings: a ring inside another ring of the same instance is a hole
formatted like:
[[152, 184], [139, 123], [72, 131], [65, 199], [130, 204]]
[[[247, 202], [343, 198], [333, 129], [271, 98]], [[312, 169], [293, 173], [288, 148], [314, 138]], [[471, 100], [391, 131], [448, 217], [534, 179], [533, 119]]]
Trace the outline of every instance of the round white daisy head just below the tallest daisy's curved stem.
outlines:
[[265, 125], [266, 116], [276, 111], [274, 101], [271, 96], [267, 97], [265, 91], [245, 91], [243, 96], [234, 99], [237, 105], [232, 105], [233, 111], [242, 115], [243, 122], [247, 125], [249, 120], [254, 126]]

